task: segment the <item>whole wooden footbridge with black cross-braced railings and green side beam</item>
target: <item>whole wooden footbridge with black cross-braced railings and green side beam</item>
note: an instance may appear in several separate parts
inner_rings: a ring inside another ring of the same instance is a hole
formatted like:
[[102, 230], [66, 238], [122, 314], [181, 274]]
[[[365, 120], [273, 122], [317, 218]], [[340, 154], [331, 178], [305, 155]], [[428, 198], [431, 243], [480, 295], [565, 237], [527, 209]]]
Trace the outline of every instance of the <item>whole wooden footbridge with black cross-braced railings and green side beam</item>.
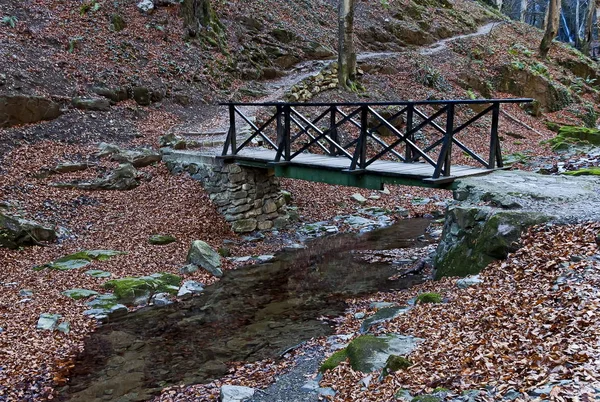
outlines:
[[[500, 107], [531, 101], [224, 103], [230, 128], [221, 158], [331, 184], [449, 187], [503, 167]], [[244, 114], [248, 107], [258, 109], [261, 123]], [[238, 138], [239, 123], [250, 126], [250, 136]]]

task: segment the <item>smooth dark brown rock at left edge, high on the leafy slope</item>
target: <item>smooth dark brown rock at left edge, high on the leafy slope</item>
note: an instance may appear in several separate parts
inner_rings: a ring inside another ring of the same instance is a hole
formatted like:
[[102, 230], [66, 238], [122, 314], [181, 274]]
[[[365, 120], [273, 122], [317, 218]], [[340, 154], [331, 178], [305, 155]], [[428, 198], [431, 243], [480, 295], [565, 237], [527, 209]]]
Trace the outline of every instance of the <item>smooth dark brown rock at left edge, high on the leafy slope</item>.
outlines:
[[0, 96], [0, 127], [53, 120], [60, 116], [58, 103], [41, 96]]

